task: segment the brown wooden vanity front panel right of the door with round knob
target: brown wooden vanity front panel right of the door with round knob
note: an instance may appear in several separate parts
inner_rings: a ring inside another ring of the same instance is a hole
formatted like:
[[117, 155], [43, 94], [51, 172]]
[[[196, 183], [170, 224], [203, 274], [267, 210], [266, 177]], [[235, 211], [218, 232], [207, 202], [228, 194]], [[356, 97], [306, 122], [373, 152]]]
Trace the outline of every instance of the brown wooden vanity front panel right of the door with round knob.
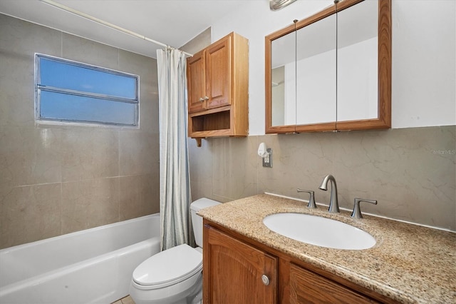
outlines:
[[333, 280], [290, 265], [290, 303], [378, 303]]

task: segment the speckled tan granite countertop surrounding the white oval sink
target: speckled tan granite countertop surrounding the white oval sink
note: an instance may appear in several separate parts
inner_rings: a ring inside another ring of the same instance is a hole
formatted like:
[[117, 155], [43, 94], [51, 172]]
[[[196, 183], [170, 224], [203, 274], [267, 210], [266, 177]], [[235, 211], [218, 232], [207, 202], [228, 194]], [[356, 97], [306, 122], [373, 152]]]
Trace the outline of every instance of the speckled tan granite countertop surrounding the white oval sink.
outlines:
[[[265, 216], [284, 212], [333, 218], [365, 230], [377, 243], [365, 250], [323, 248], [264, 226]], [[347, 211], [309, 209], [302, 201], [268, 194], [205, 208], [199, 215], [402, 303], [456, 303], [456, 233], [374, 216], [355, 220]]]

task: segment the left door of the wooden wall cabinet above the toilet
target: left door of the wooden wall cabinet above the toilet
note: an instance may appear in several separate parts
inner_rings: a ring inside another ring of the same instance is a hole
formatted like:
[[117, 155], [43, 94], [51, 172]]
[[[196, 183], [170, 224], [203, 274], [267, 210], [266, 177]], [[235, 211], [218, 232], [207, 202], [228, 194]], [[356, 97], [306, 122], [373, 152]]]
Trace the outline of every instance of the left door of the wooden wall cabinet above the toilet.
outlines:
[[187, 59], [187, 93], [188, 93], [188, 111], [194, 113], [206, 108], [206, 74], [205, 67], [206, 51], [199, 51]]

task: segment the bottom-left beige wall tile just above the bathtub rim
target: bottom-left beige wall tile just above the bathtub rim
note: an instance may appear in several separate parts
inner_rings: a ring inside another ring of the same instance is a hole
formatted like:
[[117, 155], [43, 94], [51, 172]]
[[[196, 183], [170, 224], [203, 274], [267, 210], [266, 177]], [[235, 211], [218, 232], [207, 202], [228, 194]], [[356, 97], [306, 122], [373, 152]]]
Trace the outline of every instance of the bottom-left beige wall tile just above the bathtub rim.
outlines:
[[0, 185], [0, 249], [61, 234], [61, 184]]

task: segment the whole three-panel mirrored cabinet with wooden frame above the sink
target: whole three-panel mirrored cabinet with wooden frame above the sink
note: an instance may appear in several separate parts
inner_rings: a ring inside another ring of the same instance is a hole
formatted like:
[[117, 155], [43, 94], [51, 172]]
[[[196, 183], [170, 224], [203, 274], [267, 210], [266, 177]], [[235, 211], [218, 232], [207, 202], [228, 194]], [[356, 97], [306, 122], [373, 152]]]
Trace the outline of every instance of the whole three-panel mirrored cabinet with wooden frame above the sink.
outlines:
[[343, 0], [266, 36], [266, 133], [390, 128], [390, 2]]

